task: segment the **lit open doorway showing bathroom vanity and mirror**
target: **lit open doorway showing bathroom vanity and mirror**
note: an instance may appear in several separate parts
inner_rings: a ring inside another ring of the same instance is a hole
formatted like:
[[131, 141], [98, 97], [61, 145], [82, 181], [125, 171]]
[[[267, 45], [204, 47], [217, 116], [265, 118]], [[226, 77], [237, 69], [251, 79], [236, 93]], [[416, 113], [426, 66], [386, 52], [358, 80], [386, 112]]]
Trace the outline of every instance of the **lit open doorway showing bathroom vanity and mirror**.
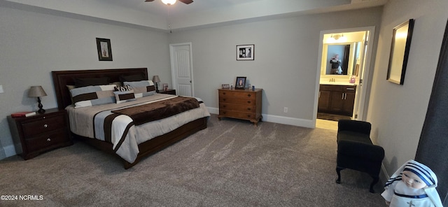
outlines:
[[365, 118], [373, 36], [374, 27], [321, 31], [316, 119]]

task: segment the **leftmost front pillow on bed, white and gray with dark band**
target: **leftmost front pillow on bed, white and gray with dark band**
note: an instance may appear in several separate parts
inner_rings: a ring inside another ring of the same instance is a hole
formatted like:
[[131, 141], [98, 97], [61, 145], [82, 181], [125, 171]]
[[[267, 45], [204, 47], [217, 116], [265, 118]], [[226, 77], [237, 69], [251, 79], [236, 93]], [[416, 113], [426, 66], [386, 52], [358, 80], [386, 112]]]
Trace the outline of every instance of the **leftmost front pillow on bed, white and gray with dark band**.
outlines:
[[115, 103], [113, 88], [116, 85], [90, 85], [70, 90], [75, 108]]

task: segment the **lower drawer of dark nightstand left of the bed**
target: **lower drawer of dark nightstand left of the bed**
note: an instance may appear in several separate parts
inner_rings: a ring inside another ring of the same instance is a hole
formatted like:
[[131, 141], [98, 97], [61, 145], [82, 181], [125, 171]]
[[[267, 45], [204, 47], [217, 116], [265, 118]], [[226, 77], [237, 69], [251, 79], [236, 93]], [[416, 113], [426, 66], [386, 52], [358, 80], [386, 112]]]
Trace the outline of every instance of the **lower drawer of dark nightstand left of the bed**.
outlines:
[[27, 138], [25, 143], [27, 145], [28, 152], [34, 152], [45, 150], [46, 148], [56, 147], [58, 143], [64, 143], [68, 139], [67, 131], [64, 128]]

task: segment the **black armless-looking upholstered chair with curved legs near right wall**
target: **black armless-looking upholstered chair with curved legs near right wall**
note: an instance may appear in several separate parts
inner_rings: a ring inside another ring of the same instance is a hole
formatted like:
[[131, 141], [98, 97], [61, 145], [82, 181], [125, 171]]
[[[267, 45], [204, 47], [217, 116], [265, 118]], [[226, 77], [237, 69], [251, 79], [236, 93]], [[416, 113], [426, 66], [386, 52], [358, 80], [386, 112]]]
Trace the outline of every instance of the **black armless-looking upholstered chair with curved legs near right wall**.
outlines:
[[341, 183], [341, 170], [353, 169], [368, 173], [373, 181], [370, 192], [378, 183], [384, 149], [370, 140], [372, 125], [356, 120], [339, 120], [337, 128], [337, 180]]

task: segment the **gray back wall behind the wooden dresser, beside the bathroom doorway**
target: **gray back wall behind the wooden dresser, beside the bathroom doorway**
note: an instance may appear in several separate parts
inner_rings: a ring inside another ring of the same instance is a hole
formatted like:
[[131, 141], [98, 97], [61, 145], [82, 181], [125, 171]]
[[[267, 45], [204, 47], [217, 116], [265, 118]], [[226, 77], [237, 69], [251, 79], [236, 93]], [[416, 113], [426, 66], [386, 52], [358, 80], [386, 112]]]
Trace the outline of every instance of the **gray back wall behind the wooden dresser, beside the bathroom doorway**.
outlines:
[[[315, 113], [320, 32], [380, 21], [381, 8], [370, 8], [174, 32], [169, 42], [193, 43], [195, 96], [207, 106], [218, 108], [221, 84], [246, 76], [264, 90], [263, 120], [304, 126]], [[255, 44], [254, 61], [236, 61], [236, 45], [244, 44]]]

